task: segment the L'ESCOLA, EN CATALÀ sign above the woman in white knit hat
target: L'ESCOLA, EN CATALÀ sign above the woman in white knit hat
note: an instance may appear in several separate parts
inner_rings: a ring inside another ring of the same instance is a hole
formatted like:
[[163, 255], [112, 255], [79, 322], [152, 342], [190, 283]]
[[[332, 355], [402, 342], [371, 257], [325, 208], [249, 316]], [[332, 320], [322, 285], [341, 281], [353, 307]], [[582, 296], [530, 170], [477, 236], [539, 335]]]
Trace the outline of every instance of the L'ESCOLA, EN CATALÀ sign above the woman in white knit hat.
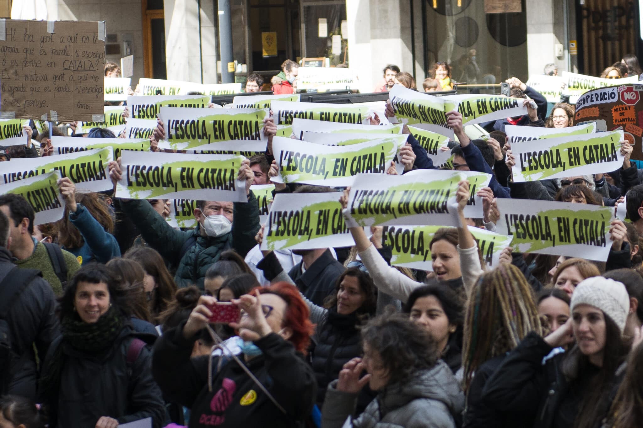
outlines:
[[498, 232], [514, 237], [515, 252], [606, 261], [613, 207], [498, 198]]

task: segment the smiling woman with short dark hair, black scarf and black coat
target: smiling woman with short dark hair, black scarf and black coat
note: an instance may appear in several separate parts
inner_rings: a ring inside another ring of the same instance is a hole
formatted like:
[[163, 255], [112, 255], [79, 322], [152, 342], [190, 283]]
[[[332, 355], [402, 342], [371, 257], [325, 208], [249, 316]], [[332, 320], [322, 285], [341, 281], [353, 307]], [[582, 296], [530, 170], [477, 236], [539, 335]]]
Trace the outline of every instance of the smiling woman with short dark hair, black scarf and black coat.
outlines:
[[145, 418], [162, 426], [165, 405], [150, 372], [152, 355], [129, 316], [106, 266], [89, 264], [76, 273], [60, 302], [62, 336], [42, 369], [51, 428], [116, 428]]

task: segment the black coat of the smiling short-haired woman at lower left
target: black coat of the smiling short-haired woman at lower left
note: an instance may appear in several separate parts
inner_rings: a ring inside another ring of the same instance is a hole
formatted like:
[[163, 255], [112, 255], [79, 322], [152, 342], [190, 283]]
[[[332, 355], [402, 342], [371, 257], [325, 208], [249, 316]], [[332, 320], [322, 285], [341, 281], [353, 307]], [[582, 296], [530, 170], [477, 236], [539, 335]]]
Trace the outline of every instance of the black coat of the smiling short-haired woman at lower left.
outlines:
[[143, 348], [136, 361], [127, 364], [135, 337], [144, 336], [125, 325], [113, 347], [100, 355], [80, 352], [62, 336], [51, 345], [48, 359], [62, 346], [64, 363], [57, 400], [47, 403], [52, 412], [50, 428], [93, 427], [101, 416], [119, 424], [151, 417], [154, 428], [163, 426], [165, 403], [152, 379], [152, 352]]

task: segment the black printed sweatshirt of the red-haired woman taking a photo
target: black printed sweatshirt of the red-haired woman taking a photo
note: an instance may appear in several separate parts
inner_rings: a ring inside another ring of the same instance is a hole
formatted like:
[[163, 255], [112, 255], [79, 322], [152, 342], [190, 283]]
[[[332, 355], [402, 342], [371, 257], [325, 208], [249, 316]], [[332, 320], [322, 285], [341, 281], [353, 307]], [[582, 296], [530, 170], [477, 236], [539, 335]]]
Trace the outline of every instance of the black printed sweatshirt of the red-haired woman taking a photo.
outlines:
[[255, 341], [263, 354], [246, 363], [284, 407], [284, 415], [233, 360], [218, 368], [219, 360], [214, 359], [210, 391], [210, 357], [190, 358], [194, 340], [183, 338], [184, 325], [167, 330], [157, 339], [152, 372], [171, 402], [190, 407], [190, 428], [296, 427], [298, 421], [311, 415], [317, 384], [312, 368], [295, 352], [292, 343], [269, 334]]

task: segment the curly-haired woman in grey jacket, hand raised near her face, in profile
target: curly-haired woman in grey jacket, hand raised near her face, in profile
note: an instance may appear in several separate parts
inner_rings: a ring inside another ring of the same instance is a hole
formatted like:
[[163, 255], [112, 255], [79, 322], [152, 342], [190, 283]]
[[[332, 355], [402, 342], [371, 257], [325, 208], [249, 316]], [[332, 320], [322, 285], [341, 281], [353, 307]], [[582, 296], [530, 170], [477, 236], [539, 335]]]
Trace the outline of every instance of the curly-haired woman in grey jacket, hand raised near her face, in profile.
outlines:
[[[364, 357], [346, 363], [338, 381], [329, 386], [322, 427], [458, 426], [462, 390], [425, 329], [403, 314], [387, 313], [368, 321], [361, 337]], [[364, 370], [367, 374], [361, 377]], [[345, 424], [366, 384], [377, 391], [377, 398]]]

